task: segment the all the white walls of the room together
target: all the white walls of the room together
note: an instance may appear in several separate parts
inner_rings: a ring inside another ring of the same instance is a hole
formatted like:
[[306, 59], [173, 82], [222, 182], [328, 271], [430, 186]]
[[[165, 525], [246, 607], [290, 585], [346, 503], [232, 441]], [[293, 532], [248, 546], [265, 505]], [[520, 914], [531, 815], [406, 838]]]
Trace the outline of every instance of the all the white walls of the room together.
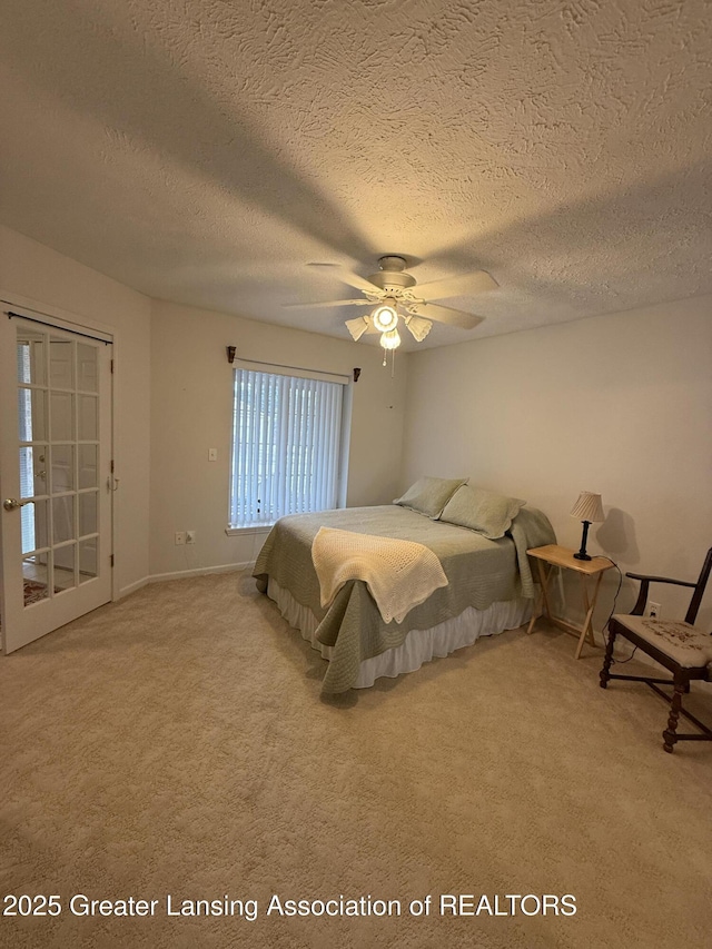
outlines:
[[[244, 563], [259, 546], [225, 534], [228, 344], [250, 359], [362, 367], [349, 506], [387, 503], [422, 474], [468, 474], [541, 507], [572, 547], [581, 527], [568, 511], [580, 491], [600, 492], [607, 517], [590, 550], [624, 571], [694, 577], [712, 544], [711, 297], [399, 354], [392, 379], [377, 347], [151, 304], [2, 226], [0, 296], [115, 334], [120, 592], [151, 574]], [[195, 547], [176, 547], [177, 530], [196, 530]], [[612, 587], [611, 575], [602, 616]], [[655, 593], [663, 615], [676, 609], [671, 589]], [[712, 591], [708, 626], [711, 603]]]

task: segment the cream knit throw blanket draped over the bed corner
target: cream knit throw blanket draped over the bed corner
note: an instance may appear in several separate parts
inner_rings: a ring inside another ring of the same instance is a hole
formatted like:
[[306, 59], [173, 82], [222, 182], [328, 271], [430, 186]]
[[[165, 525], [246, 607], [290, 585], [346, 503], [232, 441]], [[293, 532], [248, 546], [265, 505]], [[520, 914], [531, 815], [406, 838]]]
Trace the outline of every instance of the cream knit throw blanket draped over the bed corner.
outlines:
[[400, 623], [447, 577], [436, 555], [423, 544], [320, 527], [312, 544], [312, 560], [327, 606], [348, 580], [363, 580], [384, 622]]

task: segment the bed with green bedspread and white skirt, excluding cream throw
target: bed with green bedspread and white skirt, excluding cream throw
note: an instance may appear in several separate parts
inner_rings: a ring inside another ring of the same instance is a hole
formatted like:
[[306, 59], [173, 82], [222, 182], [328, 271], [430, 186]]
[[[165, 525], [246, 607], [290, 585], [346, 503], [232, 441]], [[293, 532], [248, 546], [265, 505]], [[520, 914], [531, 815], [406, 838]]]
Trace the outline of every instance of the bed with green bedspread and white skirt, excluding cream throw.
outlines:
[[[526, 551], [555, 543], [555, 535], [541, 511], [523, 505], [518, 502], [514, 516], [503, 522], [506, 530], [500, 537], [441, 520], [447, 507], [434, 516], [397, 502], [289, 515], [271, 528], [253, 575], [289, 625], [328, 660], [323, 693], [368, 688], [382, 675], [413, 672], [436, 655], [530, 619], [537, 589]], [[415, 541], [437, 556], [447, 585], [400, 622], [383, 620], [362, 580], [346, 582], [323, 606], [312, 546], [325, 526]]]

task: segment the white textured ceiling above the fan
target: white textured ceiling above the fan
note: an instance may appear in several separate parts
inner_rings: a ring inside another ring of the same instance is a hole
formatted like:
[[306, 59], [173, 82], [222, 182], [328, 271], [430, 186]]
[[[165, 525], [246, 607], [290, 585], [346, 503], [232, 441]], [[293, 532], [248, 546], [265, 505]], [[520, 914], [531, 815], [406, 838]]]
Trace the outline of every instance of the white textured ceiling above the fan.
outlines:
[[[154, 297], [344, 338], [400, 254], [485, 320], [712, 293], [708, 0], [3, 0], [0, 220]], [[366, 339], [367, 337], [365, 337]], [[356, 345], [356, 344], [354, 344]]]

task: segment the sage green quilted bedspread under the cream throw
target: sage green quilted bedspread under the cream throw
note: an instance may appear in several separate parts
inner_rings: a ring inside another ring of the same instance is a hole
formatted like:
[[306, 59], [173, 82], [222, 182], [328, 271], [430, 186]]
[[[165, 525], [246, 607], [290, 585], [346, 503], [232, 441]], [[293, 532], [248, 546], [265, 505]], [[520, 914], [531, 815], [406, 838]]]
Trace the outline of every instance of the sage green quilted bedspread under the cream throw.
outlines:
[[[312, 562], [312, 542], [322, 526], [424, 544], [441, 561], [448, 585], [411, 610], [402, 623], [383, 621], [360, 580], [346, 583], [330, 605], [323, 609]], [[436, 626], [458, 616], [467, 606], [486, 610], [495, 602], [534, 597], [526, 551], [555, 543], [554, 531], [541, 511], [523, 507], [510, 533], [511, 537], [488, 541], [474, 531], [431, 521], [395, 504], [293, 514], [271, 528], [253, 575], [263, 592], [271, 576], [314, 613], [319, 621], [317, 640], [333, 649], [322, 691], [345, 692], [356, 681], [362, 660], [400, 645], [412, 630]]]

